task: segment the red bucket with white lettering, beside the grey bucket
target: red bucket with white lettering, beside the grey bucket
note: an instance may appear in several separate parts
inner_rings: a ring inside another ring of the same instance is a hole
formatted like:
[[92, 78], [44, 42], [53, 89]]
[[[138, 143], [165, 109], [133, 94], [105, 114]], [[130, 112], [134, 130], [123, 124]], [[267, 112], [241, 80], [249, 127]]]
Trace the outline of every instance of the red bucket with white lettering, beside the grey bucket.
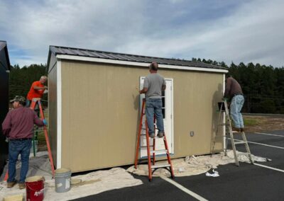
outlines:
[[43, 176], [32, 176], [26, 178], [26, 200], [42, 201], [44, 197], [44, 181]]

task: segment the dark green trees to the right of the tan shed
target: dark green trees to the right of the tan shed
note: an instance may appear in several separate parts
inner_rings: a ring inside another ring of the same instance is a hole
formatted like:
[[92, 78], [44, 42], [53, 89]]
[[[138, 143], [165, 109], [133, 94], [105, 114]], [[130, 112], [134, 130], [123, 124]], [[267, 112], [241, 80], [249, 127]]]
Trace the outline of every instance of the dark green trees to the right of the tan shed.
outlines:
[[218, 65], [229, 69], [229, 74], [241, 85], [244, 93], [244, 113], [284, 114], [284, 68], [274, 68], [271, 65], [231, 63], [211, 59], [196, 59], [192, 61]]

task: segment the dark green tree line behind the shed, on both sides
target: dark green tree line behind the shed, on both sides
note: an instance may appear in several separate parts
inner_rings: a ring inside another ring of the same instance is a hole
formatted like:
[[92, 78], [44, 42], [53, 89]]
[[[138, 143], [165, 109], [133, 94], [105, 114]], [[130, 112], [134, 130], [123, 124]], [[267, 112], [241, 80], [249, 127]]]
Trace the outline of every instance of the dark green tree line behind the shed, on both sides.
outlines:
[[[211, 59], [196, 59], [192, 61], [204, 62], [228, 68], [229, 74], [236, 79], [244, 92], [244, 113], [278, 113], [284, 114], [284, 68], [273, 68], [261, 64], [234, 64], [227, 66], [225, 62]], [[40, 76], [47, 75], [45, 64], [31, 64], [28, 67], [11, 67], [9, 76], [9, 98], [28, 94], [33, 81]], [[47, 94], [43, 100], [48, 100]]]

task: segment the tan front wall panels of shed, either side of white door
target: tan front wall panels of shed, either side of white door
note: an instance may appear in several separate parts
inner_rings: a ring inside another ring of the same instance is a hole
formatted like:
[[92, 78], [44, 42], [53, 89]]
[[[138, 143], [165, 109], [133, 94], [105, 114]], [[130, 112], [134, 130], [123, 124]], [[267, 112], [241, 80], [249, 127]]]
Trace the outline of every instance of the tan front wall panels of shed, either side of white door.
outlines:
[[[136, 88], [148, 69], [68, 61], [61, 67], [62, 167], [76, 172], [133, 163], [139, 123]], [[173, 79], [173, 158], [208, 154], [223, 74], [169, 69], [159, 73]]]

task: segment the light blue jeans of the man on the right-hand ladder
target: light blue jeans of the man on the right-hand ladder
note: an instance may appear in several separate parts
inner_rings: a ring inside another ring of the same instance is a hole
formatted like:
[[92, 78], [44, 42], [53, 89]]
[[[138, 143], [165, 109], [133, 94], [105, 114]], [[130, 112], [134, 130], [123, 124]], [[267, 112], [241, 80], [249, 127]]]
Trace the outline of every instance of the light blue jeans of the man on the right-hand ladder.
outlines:
[[237, 95], [231, 98], [230, 113], [231, 119], [234, 122], [236, 128], [244, 127], [243, 116], [241, 115], [241, 108], [244, 105], [244, 96]]

